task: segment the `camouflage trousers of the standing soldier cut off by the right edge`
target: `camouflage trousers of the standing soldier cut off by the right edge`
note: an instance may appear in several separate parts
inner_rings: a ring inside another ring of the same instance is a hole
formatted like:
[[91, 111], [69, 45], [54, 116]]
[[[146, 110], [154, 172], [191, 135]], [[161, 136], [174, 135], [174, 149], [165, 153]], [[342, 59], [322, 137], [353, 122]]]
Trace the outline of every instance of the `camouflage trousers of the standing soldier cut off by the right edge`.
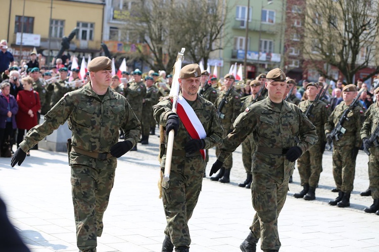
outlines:
[[379, 147], [370, 148], [368, 160], [368, 178], [370, 179], [370, 189], [372, 199], [379, 199]]

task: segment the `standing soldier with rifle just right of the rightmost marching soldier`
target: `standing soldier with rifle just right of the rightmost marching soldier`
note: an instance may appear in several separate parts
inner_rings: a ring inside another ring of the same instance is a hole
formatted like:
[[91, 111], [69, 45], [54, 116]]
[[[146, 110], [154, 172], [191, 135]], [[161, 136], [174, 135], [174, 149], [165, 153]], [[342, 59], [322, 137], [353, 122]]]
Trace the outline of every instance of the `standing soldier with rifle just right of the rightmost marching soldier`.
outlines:
[[305, 114], [309, 105], [313, 103], [314, 107], [308, 118], [316, 127], [318, 141], [298, 159], [298, 169], [303, 190], [298, 194], [294, 194], [294, 197], [298, 199], [304, 197], [304, 200], [311, 201], [316, 199], [315, 190], [322, 171], [322, 150], [325, 149], [324, 143], [326, 143], [324, 124], [329, 117], [330, 110], [324, 102], [320, 100], [317, 103], [314, 102], [319, 93], [316, 83], [308, 83], [305, 92], [308, 100], [300, 102], [299, 108]]

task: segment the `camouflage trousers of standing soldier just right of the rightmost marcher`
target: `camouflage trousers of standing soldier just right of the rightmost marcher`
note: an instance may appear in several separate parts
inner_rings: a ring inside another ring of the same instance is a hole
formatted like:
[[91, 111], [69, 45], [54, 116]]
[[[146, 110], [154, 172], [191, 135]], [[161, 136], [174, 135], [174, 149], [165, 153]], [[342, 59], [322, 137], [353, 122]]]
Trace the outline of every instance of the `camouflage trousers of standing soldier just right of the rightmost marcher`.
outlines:
[[321, 144], [317, 142], [298, 159], [301, 185], [316, 187], [322, 172]]

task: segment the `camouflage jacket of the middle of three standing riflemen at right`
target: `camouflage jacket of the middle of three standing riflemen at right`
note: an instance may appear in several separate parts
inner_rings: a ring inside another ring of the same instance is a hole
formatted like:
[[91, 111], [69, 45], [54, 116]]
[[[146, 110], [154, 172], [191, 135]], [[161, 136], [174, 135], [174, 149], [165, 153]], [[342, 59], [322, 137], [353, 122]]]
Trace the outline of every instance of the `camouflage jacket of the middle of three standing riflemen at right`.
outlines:
[[[340, 104], [336, 106], [336, 108], [331, 112], [329, 115], [329, 118], [327, 119], [325, 123], [325, 135], [330, 133], [334, 127], [336, 127], [338, 121], [340, 120], [340, 117], [345, 109], [347, 109], [348, 106], [345, 105], [345, 102], [342, 101]], [[360, 131], [362, 128], [362, 123], [364, 121], [364, 112], [363, 107], [361, 107], [359, 104], [348, 113], [348, 120], [345, 120], [342, 123], [342, 127], [346, 129], [345, 134], [340, 134], [340, 140], [333, 141], [333, 144], [335, 146], [344, 146], [344, 145], [354, 145], [355, 147], [361, 147], [362, 146], [362, 140], [360, 137]]]

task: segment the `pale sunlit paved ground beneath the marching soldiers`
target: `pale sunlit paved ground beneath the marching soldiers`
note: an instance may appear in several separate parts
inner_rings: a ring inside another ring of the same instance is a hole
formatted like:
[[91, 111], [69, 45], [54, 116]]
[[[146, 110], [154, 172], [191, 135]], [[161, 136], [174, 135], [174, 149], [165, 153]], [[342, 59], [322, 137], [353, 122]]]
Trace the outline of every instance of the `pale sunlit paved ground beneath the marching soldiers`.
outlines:
[[[104, 232], [98, 238], [100, 252], [161, 251], [166, 220], [158, 199], [158, 138], [151, 136], [149, 141], [150, 145], [138, 144], [137, 152], [119, 159]], [[189, 221], [193, 252], [240, 251], [249, 233], [255, 212], [250, 190], [236, 186], [245, 179], [240, 148], [233, 154], [230, 184], [204, 179]], [[45, 150], [30, 153], [22, 166], [14, 168], [9, 158], [0, 158], [0, 196], [11, 221], [31, 251], [77, 251], [67, 155]], [[214, 150], [209, 153], [207, 172], [215, 161]], [[324, 162], [329, 162], [330, 155], [324, 154]], [[366, 157], [359, 155], [364, 166]], [[330, 180], [331, 170], [325, 166], [322, 176]], [[357, 190], [362, 191], [368, 186], [367, 170], [359, 173], [365, 174], [356, 178]], [[337, 197], [330, 193], [334, 184], [320, 181], [317, 200], [307, 202], [293, 197], [300, 191], [299, 180], [296, 170], [279, 216], [280, 251], [379, 251], [379, 216], [362, 211], [372, 204], [370, 197], [355, 191], [351, 208], [331, 207], [327, 201]]]

